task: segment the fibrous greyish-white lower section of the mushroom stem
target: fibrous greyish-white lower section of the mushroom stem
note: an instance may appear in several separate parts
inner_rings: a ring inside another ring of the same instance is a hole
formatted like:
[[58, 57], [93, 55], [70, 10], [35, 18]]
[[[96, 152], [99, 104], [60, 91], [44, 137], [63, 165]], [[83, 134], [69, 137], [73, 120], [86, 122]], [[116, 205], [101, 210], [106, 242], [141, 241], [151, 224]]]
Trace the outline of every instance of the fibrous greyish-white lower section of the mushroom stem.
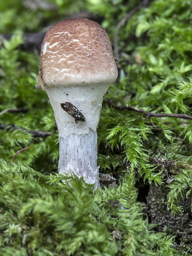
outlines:
[[59, 173], [84, 178], [89, 184], [99, 186], [97, 167], [97, 132], [90, 129], [88, 134], [69, 134], [60, 136]]

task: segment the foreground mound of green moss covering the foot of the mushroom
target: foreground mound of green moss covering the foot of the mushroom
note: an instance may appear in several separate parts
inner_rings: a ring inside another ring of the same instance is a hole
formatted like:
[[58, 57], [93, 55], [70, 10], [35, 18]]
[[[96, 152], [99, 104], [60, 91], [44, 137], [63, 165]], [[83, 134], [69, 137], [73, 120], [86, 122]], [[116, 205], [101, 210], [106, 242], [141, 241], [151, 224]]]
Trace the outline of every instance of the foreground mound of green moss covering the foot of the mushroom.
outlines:
[[94, 193], [82, 179], [20, 163], [2, 163], [0, 179], [0, 255], [179, 255], [173, 238], [143, 220], [133, 172]]

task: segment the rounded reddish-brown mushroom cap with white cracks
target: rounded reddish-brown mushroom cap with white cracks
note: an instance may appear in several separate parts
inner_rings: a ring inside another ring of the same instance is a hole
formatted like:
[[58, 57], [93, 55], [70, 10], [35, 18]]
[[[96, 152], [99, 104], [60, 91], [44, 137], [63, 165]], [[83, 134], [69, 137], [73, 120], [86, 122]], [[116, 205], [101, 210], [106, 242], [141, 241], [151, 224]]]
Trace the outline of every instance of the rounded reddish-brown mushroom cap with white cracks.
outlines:
[[87, 19], [53, 25], [44, 37], [39, 67], [38, 82], [45, 91], [52, 86], [109, 85], [117, 77], [106, 31]]

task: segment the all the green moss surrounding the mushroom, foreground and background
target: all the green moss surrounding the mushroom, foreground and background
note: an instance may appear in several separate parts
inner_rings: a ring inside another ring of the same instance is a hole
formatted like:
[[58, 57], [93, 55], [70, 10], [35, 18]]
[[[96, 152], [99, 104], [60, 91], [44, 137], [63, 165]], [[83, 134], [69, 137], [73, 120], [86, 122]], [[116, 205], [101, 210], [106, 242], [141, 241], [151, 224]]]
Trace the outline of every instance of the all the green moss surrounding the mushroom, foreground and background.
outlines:
[[[46, 2], [53, 5], [32, 10], [21, 0], [0, 0], [1, 33], [12, 33], [9, 41], [2, 40], [0, 48], [0, 111], [4, 111], [0, 124], [7, 126], [0, 130], [0, 255], [108, 255], [110, 247], [114, 255], [176, 255], [172, 238], [150, 231], [148, 221], [142, 219], [133, 174], [117, 189], [94, 193], [82, 180], [75, 178], [70, 188], [56, 174], [45, 176], [57, 172], [58, 132], [47, 95], [35, 88], [39, 54], [20, 48], [24, 33], [41, 31], [81, 11], [100, 20], [113, 44], [118, 22], [139, 1]], [[128, 104], [155, 113], [191, 115], [191, 9], [187, 0], [149, 1], [147, 8], [140, 8], [125, 22], [118, 35], [119, 82], [110, 86], [108, 99], [118, 106]], [[10, 108], [25, 111], [10, 113]], [[12, 125], [24, 130], [8, 129]], [[192, 188], [191, 126], [187, 119], [147, 118], [130, 110], [117, 110], [104, 99], [98, 125], [100, 170], [113, 173], [117, 179], [134, 170], [135, 176], [140, 175], [146, 183], [167, 189], [167, 205], [172, 213], [181, 212], [180, 199], [189, 197]], [[53, 134], [44, 140], [27, 130]], [[12, 163], [9, 167], [4, 163], [3, 159], [9, 163], [17, 151], [29, 146], [14, 160], [22, 164]], [[155, 161], [158, 157], [153, 154], [161, 156], [161, 161]], [[109, 200], [125, 210], [109, 207]], [[59, 210], [53, 213], [55, 205]], [[76, 212], [83, 218], [82, 223], [78, 223]], [[182, 255], [190, 252], [185, 249], [188, 246], [187, 240], [182, 241]]]

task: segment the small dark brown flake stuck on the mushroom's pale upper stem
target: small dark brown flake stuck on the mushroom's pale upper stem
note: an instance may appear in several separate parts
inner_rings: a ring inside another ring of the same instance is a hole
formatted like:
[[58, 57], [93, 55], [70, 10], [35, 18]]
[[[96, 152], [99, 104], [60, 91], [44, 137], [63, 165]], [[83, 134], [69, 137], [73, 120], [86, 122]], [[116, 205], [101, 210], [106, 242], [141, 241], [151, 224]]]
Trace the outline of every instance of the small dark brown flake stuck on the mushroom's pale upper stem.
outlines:
[[86, 119], [84, 115], [74, 106], [71, 102], [66, 101], [65, 103], [61, 103], [61, 108], [65, 110], [70, 116], [75, 118], [75, 123], [77, 124], [79, 121], [85, 122]]

